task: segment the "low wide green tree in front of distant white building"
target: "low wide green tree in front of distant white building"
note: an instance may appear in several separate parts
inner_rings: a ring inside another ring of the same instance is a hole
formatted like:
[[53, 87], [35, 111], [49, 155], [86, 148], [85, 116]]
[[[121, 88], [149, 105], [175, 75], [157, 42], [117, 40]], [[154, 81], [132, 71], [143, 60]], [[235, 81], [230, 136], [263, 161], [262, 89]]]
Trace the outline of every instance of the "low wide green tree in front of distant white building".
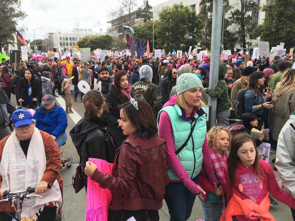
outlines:
[[83, 37], [78, 41], [80, 48], [90, 47], [91, 51], [97, 48], [110, 50], [112, 48], [113, 38], [109, 35], [91, 35]]

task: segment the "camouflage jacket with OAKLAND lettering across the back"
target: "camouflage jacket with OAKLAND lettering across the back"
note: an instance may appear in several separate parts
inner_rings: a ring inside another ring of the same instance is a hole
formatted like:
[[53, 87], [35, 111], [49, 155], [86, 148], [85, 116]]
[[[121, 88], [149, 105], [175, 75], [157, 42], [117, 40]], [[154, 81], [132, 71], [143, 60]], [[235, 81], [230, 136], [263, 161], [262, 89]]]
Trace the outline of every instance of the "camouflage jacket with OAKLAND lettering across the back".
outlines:
[[132, 85], [132, 92], [135, 99], [146, 101], [153, 109], [155, 118], [162, 109], [162, 95], [158, 87], [147, 79], [137, 81]]

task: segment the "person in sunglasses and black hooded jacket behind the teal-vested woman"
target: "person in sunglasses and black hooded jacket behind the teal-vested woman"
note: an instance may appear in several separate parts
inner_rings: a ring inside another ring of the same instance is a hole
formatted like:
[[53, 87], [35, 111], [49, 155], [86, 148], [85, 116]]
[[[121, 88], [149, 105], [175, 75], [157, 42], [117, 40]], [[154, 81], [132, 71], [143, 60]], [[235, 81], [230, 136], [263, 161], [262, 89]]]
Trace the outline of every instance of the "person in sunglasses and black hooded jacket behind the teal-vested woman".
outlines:
[[172, 87], [176, 85], [176, 75], [176, 68], [170, 68], [167, 77], [161, 81], [162, 105], [169, 100]]

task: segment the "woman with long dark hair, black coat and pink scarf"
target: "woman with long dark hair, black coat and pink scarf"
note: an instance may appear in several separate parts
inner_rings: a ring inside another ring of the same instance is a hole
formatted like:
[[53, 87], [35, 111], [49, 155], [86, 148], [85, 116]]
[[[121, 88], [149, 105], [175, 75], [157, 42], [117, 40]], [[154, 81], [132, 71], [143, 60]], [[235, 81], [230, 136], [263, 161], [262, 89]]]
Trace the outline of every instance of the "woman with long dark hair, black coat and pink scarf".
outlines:
[[120, 70], [115, 73], [114, 82], [110, 84], [109, 93], [106, 95], [106, 101], [110, 105], [109, 113], [102, 115], [118, 146], [121, 146], [128, 137], [123, 134], [121, 127], [119, 127], [121, 118], [118, 105], [128, 102], [130, 95], [133, 97], [127, 74], [124, 70]]

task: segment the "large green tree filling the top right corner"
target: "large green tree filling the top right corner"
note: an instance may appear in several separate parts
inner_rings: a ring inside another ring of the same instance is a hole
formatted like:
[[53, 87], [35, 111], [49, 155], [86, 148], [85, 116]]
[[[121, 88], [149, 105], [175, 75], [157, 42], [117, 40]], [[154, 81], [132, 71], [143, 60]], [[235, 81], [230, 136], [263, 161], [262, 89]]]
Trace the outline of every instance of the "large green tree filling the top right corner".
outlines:
[[253, 30], [252, 36], [260, 36], [260, 41], [267, 41], [270, 46], [285, 42], [285, 48], [293, 48], [295, 46], [295, 1], [267, 0], [260, 9], [265, 11], [265, 19]]

